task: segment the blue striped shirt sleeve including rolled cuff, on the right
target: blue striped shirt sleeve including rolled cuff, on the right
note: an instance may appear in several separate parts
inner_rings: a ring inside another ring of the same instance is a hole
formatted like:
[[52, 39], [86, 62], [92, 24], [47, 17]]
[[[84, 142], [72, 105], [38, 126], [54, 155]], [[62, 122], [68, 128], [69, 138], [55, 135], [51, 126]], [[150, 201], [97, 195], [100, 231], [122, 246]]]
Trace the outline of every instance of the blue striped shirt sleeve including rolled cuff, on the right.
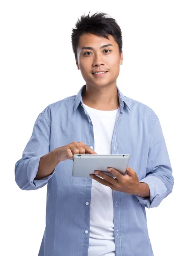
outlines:
[[149, 198], [136, 195], [140, 204], [147, 208], [157, 207], [173, 189], [172, 167], [157, 115], [151, 127], [146, 177], [140, 182], [147, 183], [150, 188]]

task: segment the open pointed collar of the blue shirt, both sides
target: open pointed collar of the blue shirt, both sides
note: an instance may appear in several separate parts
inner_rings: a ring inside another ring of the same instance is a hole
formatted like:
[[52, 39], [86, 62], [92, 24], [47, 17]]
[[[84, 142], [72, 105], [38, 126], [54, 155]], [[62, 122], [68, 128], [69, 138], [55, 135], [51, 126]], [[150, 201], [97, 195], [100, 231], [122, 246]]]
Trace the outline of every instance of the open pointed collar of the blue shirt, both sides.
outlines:
[[[119, 97], [119, 105], [120, 105], [120, 111], [123, 110], [124, 108], [124, 103], [125, 105], [128, 107], [128, 109], [131, 111], [131, 104], [130, 102], [127, 101], [127, 97], [125, 97], [121, 91], [119, 90], [118, 86], [117, 87], [117, 91], [118, 91], [118, 97]], [[78, 108], [80, 103], [83, 103], [82, 101], [82, 91], [86, 89], [86, 84], [84, 86], [81, 87], [81, 89], [79, 90], [78, 94], [76, 95], [76, 98], [74, 100], [74, 113], [76, 112], [76, 109]]]

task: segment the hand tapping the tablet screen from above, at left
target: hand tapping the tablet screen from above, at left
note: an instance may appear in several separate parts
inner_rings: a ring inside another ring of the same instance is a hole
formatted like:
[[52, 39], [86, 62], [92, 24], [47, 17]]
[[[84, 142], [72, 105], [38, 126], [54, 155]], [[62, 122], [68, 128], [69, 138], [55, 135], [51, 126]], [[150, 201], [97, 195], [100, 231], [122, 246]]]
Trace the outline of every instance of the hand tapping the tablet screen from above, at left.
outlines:
[[83, 142], [72, 142], [68, 145], [56, 148], [56, 158], [59, 161], [73, 160], [74, 154], [97, 154], [92, 148]]

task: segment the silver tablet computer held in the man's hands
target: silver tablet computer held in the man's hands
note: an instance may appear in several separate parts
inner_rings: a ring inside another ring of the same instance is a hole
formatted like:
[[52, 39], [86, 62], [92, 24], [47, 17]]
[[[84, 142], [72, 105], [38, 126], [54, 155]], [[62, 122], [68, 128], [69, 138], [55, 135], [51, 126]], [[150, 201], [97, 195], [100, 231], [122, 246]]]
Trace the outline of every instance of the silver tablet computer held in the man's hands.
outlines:
[[74, 177], [89, 177], [94, 171], [105, 172], [111, 177], [115, 177], [108, 172], [108, 167], [112, 167], [125, 175], [130, 154], [74, 154], [72, 175]]

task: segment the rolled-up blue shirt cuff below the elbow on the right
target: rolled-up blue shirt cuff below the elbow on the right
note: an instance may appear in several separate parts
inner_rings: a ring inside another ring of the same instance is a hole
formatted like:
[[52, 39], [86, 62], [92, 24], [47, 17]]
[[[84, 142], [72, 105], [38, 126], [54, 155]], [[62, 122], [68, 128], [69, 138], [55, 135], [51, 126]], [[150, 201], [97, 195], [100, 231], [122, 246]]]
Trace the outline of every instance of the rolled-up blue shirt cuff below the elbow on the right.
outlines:
[[160, 178], [154, 175], [148, 175], [147, 177], [140, 180], [140, 182], [145, 182], [150, 188], [150, 197], [144, 198], [136, 195], [139, 203], [146, 208], [157, 207], [163, 198], [166, 196], [167, 188]]

